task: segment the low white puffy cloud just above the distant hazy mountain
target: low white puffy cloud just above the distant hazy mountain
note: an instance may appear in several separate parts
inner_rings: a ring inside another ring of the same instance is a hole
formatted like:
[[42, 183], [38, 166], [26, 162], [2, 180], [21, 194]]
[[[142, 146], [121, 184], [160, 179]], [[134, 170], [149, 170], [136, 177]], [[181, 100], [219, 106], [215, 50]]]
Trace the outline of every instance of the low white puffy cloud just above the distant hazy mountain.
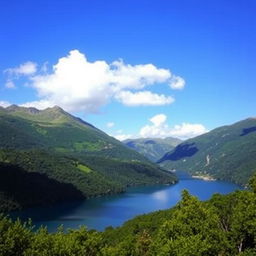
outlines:
[[181, 125], [169, 127], [166, 120], [167, 117], [164, 114], [152, 117], [150, 119], [151, 124], [145, 125], [140, 129], [140, 136], [143, 138], [176, 137], [185, 140], [207, 132], [207, 129], [202, 124], [182, 123]]

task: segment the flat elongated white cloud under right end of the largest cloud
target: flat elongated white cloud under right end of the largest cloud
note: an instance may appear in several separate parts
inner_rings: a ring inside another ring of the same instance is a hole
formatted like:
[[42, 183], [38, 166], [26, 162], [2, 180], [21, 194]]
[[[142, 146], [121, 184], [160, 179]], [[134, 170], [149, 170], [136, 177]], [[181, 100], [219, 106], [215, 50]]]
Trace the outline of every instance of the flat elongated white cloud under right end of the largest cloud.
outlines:
[[171, 96], [156, 94], [150, 91], [130, 92], [121, 91], [116, 94], [116, 99], [126, 106], [161, 106], [174, 102]]

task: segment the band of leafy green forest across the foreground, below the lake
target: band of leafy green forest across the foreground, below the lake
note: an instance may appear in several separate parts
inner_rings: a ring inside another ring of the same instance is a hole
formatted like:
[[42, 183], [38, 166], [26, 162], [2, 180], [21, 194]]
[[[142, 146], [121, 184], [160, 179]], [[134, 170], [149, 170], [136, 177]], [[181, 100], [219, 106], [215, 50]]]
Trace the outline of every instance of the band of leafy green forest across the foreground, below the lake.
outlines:
[[205, 256], [256, 255], [256, 175], [251, 190], [199, 201], [183, 191], [172, 209], [138, 216], [104, 232], [56, 233], [0, 217], [0, 255], [5, 256]]

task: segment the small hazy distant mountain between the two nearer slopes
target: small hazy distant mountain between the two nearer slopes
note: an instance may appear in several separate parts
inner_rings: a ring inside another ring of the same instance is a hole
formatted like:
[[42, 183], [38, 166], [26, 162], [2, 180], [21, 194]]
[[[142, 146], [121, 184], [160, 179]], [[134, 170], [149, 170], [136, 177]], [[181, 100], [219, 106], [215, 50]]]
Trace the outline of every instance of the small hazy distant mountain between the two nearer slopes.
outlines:
[[144, 155], [146, 158], [152, 162], [156, 162], [165, 153], [172, 150], [182, 141], [177, 138], [146, 138], [146, 139], [128, 139], [123, 141], [123, 143], [136, 150], [137, 152]]

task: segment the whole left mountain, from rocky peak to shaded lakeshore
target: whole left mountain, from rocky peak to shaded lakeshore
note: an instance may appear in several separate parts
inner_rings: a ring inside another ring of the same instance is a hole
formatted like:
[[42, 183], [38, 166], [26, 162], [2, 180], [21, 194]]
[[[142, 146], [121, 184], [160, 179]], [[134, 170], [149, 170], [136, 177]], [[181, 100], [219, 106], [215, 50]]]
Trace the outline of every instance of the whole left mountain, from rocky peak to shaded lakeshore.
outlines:
[[57, 106], [0, 108], [0, 211], [175, 181], [174, 175]]

